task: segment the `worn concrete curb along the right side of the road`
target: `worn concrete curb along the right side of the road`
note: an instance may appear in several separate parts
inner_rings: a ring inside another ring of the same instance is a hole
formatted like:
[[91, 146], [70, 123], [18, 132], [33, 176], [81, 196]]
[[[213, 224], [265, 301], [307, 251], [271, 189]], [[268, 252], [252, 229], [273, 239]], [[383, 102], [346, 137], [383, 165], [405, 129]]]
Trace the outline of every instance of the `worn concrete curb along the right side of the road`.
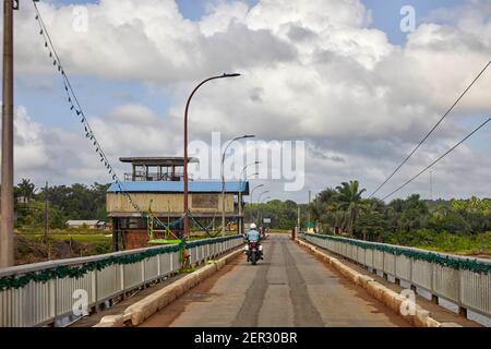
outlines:
[[325, 264], [335, 268], [337, 272], [339, 272], [339, 274], [349, 279], [351, 282], [364, 288], [376, 300], [403, 316], [410, 324], [417, 327], [448, 327], [450, 325], [452, 325], [438, 322], [430, 316], [429, 311], [422, 309], [419, 305], [416, 305], [414, 315], [407, 314], [407, 312], [404, 311], [404, 306], [402, 306], [404, 301], [406, 300], [405, 297], [391, 290], [382, 284], [379, 284], [372, 277], [356, 272], [355, 269], [339, 262], [339, 260], [325, 254], [320, 249], [310, 243], [303, 242], [298, 239], [296, 239], [295, 242], [312, 252], [315, 256], [320, 257]]

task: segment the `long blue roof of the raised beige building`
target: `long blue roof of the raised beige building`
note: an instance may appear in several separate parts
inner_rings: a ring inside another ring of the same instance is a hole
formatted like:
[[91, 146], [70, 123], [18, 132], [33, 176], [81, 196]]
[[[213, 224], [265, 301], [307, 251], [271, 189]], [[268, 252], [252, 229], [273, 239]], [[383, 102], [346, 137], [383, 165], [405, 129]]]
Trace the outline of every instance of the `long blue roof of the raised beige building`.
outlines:
[[[121, 182], [123, 191], [129, 193], [152, 192], [152, 193], [182, 193], [184, 191], [184, 183], [182, 181], [131, 181]], [[108, 193], [118, 192], [118, 184], [112, 183], [107, 190]], [[221, 182], [202, 182], [190, 181], [188, 183], [188, 191], [190, 193], [221, 193]], [[225, 192], [249, 194], [249, 182], [225, 182]]]

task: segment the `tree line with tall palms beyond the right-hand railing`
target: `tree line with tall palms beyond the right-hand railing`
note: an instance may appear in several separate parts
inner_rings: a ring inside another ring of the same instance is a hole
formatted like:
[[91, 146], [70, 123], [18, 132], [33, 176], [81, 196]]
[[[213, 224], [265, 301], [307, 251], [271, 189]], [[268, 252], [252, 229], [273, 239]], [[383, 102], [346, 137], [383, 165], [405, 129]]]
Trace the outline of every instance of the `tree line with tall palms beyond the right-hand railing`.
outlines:
[[307, 222], [310, 216], [319, 232], [342, 231], [371, 241], [387, 241], [395, 236], [408, 240], [418, 233], [472, 236], [491, 231], [491, 198], [428, 201], [412, 194], [384, 203], [363, 198], [364, 192], [356, 180], [343, 182], [321, 191], [310, 205], [278, 200], [247, 205], [246, 220], [258, 221], [262, 215], [272, 218], [271, 228], [291, 229], [300, 206], [301, 221]]

